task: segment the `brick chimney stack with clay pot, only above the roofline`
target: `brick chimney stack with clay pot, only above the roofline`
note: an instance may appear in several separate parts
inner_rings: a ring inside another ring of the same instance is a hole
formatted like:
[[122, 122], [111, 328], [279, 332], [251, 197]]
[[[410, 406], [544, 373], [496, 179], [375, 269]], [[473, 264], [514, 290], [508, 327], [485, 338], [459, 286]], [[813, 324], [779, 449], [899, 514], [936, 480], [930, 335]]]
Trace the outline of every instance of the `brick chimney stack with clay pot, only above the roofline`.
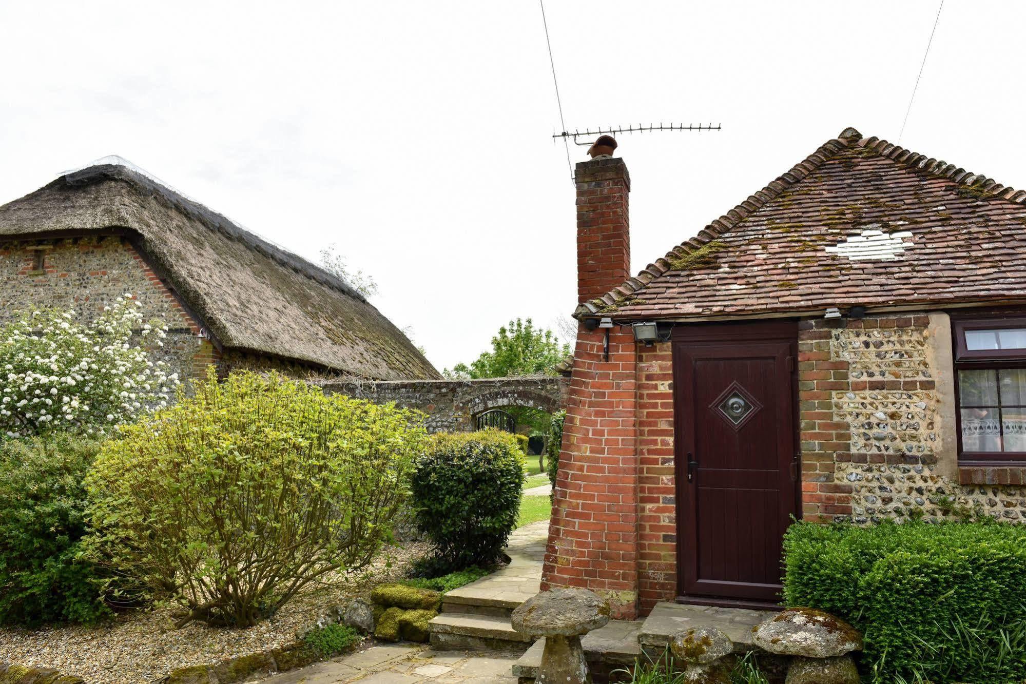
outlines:
[[[601, 296], [631, 277], [631, 236], [627, 195], [631, 177], [619, 157], [601, 154], [616, 149], [595, 145], [599, 154], [577, 165], [578, 303]], [[599, 138], [602, 142], [602, 138]]]

